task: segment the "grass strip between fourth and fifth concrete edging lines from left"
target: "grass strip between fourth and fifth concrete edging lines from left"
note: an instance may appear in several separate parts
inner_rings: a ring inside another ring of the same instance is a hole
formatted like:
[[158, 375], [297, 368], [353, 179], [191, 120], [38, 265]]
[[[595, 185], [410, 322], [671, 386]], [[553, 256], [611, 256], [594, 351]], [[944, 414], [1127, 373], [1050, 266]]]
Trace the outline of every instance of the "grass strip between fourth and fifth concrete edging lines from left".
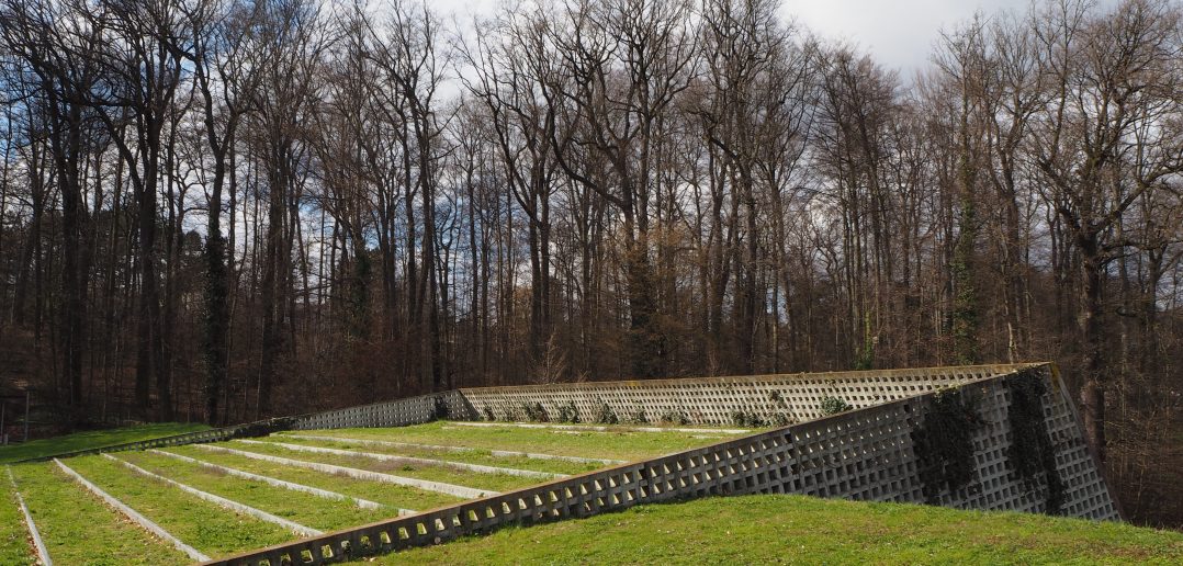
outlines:
[[194, 447], [174, 447], [169, 448], [168, 451], [198, 458], [203, 462], [250, 471], [252, 474], [265, 475], [277, 480], [290, 481], [304, 486], [328, 489], [330, 492], [337, 492], [353, 497], [370, 500], [394, 508], [425, 510], [464, 501], [463, 497], [455, 497], [447, 494], [424, 492], [421, 489], [394, 486], [390, 483], [354, 480], [350, 477], [324, 474], [303, 468], [286, 468], [271, 462], [251, 460], [245, 456], [235, 456], [232, 454], [218, 454]]

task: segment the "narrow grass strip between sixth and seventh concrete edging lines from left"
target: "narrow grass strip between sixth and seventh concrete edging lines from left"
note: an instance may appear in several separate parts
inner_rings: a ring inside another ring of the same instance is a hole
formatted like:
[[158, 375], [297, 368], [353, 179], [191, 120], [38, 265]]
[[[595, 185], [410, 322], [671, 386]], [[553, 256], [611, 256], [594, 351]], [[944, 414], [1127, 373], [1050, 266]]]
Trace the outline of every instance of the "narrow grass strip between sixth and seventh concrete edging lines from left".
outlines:
[[[570, 462], [563, 460], [543, 460], [526, 456], [493, 456], [490, 450], [473, 449], [471, 451], [433, 450], [419, 447], [388, 447], [367, 444], [364, 441], [323, 441], [304, 440], [290, 436], [270, 436], [259, 438], [269, 442], [283, 442], [285, 444], [300, 444], [309, 447], [334, 448], [338, 450], [356, 450], [363, 453], [386, 454], [389, 456], [411, 456], [418, 458], [440, 460], [445, 462], [460, 462], [480, 466], [494, 466], [498, 468], [512, 468], [531, 471], [547, 471], [551, 474], [576, 475], [603, 468], [602, 463]], [[440, 444], [437, 444], [440, 445]]]

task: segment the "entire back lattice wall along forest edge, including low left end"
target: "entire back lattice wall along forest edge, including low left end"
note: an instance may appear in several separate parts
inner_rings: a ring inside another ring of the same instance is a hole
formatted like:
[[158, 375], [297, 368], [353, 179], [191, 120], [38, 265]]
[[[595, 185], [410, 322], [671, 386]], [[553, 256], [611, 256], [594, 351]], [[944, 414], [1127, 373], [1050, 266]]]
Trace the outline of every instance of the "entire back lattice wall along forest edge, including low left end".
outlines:
[[[284, 430], [406, 427], [437, 418], [479, 421], [487, 415], [511, 421], [508, 417], [523, 404], [530, 403], [545, 403], [551, 411], [556, 411], [562, 404], [571, 403], [583, 416], [595, 415], [595, 410], [601, 405], [607, 405], [621, 417], [631, 416], [629, 411], [644, 410], [651, 419], [668, 414], [685, 418], [687, 424], [730, 424], [730, 417], [736, 411], [759, 416], [770, 423], [776, 422], [777, 417], [788, 418], [789, 422], [803, 422], [823, 416], [821, 401], [827, 396], [845, 396], [845, 401], [855, 409], [861, 409], [1034, 365], [1046, 364], [464, 388], [368, 405], [37, 456], [15, 463], [203, 444], [266, 436]], [[871, 391], [874, 385], [884, 388], [883, 391]]]

